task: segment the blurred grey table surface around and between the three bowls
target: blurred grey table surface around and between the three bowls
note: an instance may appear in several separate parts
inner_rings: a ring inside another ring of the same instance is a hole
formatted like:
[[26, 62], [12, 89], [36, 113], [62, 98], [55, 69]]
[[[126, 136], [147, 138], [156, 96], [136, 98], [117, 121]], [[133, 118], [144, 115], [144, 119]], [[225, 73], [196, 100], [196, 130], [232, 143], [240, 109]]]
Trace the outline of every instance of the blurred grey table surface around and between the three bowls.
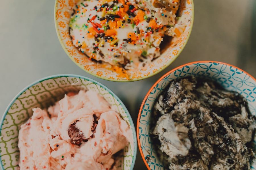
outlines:
[[[62, 49], [54, 26], [54, 0], [8, 0], [0, 5], [0, 116], [28, 84], [55, 74], [77, 74], [109, 87], [136, 125], [149, 88], [169, 70], [199, 60], [223, 61], [256, 76], [256, 1], [194, 0], [195, 21], [180, 56], [164, 71], [137, 82], [110, 82], [89, 75]], [[254, 31], [253, 31], [254, 30]], [[146, 169], [137, 154], [136, 169]]]

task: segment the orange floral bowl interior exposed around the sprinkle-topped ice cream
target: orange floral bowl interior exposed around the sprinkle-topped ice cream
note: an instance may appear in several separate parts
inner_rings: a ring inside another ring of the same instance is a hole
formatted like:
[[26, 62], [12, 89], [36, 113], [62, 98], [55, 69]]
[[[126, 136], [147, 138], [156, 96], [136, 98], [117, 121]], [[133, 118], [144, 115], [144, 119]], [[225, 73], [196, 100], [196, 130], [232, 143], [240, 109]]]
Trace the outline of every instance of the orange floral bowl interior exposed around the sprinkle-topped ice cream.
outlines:
[[[173, 39], [170, 47], [157, 59], [155, 59], [149, 67], [137, 68], [125, 71], [127, 73], [116, 73], [110, 69], [106, 69], [103, 64], [95, 63], [82, 54], [72, 43], [69, 36], [69, 18], [72, 8], [79, 0], [56, 0], [55, 2], [55, 27], [59, 41], [69, 56], [84, 71], [106, 80], [111, 81], [136, 81], [141, 80], [156, 73], [159, 73], [168, 65], [170, 65], [183, 50], [192, 30], [194, 7], [193, 0], [181, 0], [181, 8], [179, 16], [188, 15], [190, 22], [187, 23], [185, 31], [177, 39]], [[127, 75], [129, 78], [126, 78]]]

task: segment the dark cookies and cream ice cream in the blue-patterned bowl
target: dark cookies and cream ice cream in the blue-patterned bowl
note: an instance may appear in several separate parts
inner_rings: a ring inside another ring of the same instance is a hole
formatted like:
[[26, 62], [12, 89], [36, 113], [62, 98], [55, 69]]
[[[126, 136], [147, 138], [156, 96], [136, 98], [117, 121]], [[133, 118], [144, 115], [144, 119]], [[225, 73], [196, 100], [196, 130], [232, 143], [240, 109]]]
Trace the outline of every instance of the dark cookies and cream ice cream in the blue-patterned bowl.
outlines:
[[240, 94], [201, 78], [173, 80], [152, 114], [152, 139], [166, 169], [250, 169], [255, 116]]

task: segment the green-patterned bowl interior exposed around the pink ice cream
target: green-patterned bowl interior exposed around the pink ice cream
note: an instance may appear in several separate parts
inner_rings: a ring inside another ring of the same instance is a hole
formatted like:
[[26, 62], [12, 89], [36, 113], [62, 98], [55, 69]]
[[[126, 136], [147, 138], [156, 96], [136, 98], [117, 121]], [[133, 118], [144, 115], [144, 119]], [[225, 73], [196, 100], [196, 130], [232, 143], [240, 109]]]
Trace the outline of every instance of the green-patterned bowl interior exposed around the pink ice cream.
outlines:
[[133, 121], [122, 101], [104, 85], [83, 76], [58, 75], [33, 83], [25, 88], [11, 102], [3, 115], [0, 139], [2, 169], [18, 169], [18, 131], [20, 125], [32, 116], [32, 108], [46, 108], [70, 91], [94, 90], [101, 94], [130, 125], [133, 130], [133, 143], [123, 150], [123, 157], [117, 162], [119, 169], [133, 169], [136, 153], [136, 133]]

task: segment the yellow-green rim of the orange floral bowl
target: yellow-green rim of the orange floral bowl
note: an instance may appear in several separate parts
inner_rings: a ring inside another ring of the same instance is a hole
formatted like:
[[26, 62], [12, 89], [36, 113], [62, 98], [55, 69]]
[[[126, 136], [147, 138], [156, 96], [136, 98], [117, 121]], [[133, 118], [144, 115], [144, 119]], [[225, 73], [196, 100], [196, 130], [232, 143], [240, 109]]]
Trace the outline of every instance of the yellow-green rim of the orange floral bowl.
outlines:
[[180, 53], [181, 53], [181, 52], [183, 51], [183, 49], [185, 48], [185, 46], [186, 46], [186, 44], [187, 44], [187, 42], [188, 42], [188, 40], [189, 40], [189, 37], [190, 37], [190, 35], [191, 35], [193, 25], [194, 25], [194, 16], [195, 16], [195, 15], [194, 15], [194, 11], [195, 11], [195, 8], [194, 8], [194, 0], [191, 0], [192, 18], [191, 18], [191, 26], [190, 26], [190, 28], [189, 28], [189, 34], [188, 34], [188, 36], [187, 36], [187, 38], [186, 38], [186, 40], [185, 40], [183, 46], [182, 46], [181, 49], [179, 50], [179, 52], [178, 52], [176, 58], [170, 60], [164, 67], [162, 67], [162, 69], [159, 69], [158, 71], [156, 71], [156, 72], [154, 72], [154, 73], [152, 73], [152, 74], [150, 74], [150, 75], [143, 76], [143, 77], [138, 78], [138, 79], [130, 79], [130, 80], [127, 80], [127, 79], [126, 79], [126, 80], [122, 80], [122, 79], [117, 80], [117, 79], [114, 79], [114, 80], [112, 80], [112, 79], [110, 79], [110, 78], [98, 76], [98, 75], [96, 75], [95, 73], [91, 73], [91, 72], [88, 71], [88, 70], [84, 70], [83, 67], [82, 67], [81, 65], [79, 65], [79, 63], [77, 63], [77, 62], [73, 59], [73, 57], [69, 54], [69, 52], [68, 52], [67, 49], [65, 48], [63, 42], [61, 41], [61, 37], [60, 37], [60, 34], [59, 34], [59, 30], [58, 30], [58, 23], [57, 23], [57, 20], [56, 20], [56, 17], [55, 17], [56, 11], [57, 11], [58, 1], [59, 1], [59, 0], [55, 0], [55, 3], [54, 3], [54, 25], [55, 25], [55, 31], [56, 31], [56, 33], [57, 33], [57, 37], [58, 37], [58, 39], [59, 39], [59, 42], [60, 42], [60, 44], [61, 44], [61, 47], [63, 48], [63, 50], [65, 51], [65, 53], [67, 54], [67, 56], [69, 56], [69, 58], [70, 58], [80, 69], [82, 69], [82, 70], [85, 71], [86, 73], [88, 73], [88, 74], [90, 74], [90, 75], [93, 75], [93, 76], [95, 76], [95, 77], [97, 77], [97, 78], [101, 78], [101, 79], [103, 79], [103, 80], [108, 80], [108, 81], [113, 81], [113, 82], [133, 82], [133, 81], [139, 81], [139, 80], [143, 80], [143, 79], [152, 77], [152, 76], [154, 76], [154, 75], [160, 73], [160, 72], [163, 71], [164, 69], [166, 69], [166, 67], [168, 67], [169, 65], [171, 65], [171, 64], [179, 57]]

